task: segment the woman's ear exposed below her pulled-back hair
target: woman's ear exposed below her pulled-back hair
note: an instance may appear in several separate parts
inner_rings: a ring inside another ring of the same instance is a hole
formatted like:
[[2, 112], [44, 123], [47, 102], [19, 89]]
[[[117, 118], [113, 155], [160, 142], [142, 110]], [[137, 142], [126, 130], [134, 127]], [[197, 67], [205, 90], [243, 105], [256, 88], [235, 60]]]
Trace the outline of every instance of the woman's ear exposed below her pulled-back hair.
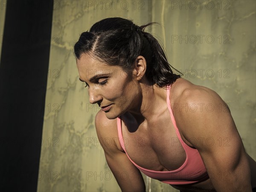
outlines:
[[146, 59], [141, 55], [138, 56], [135, 60], [135, 67], [133, 70], [133, 74], [134, 74], [134, 76], [136, 76], [136, 79], [138, 81], [140, 81], [143, 78], [143, 76], [146, 72], [146, 68], [147, 68]]

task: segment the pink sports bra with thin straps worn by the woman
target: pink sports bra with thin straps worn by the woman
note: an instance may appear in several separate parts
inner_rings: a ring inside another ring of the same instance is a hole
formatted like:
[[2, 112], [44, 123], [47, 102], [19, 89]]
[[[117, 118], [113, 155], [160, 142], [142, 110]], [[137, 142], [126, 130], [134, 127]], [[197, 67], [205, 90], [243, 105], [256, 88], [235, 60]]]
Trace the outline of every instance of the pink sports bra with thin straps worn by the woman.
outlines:
[[151, 177], [153, 179], [160, 180], [163, 183], [168, 183], [172, 185], [189, 184], [189, 183], [195, 183], [198, 181], [206, 180], [207, 178], [209, 178], [209, 176], [205, 169], [203, 160], [198, 150], [186, 145], [186, 143], [184, 143], [184, 141], [180, 137], [180, 133], [177, 128], [177, 125], [173, 116], [172, 108], [170, 105], [170, 100], [169, 100], [170, 88], [171, 88], [171, 85], [169, 85], [166, 90], [166, 93], [167, 93], [166, 102], [168, 105], [172, 123], [175, 127], [177, 137], [179, 138], [181, 145], [186, 151], [186, 160], [183, 163], [183, 165], [180, 166], [180, 168], [173, 171], [153, 171], [153, 170], [148, 170], [143, 167], [140, 167], [136, 163], [134, 163], [134, 161], [131, 160], [131, 158], [128, 156], [128, 154], [125, 151], [125, 146], [124, 146], [123, 137], [122, 137], [122, 122], [120, 117], [117, 118], [119, 142], [123, 150], [127, 154], [128, 158], [134, 164], [134, 166], [136, 166], [141, 172], [143, 172], [148, 177]]

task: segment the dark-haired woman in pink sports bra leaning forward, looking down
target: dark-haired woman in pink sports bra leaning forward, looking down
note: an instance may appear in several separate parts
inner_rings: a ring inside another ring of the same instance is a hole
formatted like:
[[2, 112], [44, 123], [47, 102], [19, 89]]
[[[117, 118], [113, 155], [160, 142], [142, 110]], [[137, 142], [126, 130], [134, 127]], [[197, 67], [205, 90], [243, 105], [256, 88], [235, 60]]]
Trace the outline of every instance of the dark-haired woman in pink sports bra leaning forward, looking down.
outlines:
[[120, 188], [145, 191], [141, 171], [180, 191], [252, 191], [256, 163], [227, 105], [172, 72], [160, 44], [144, 32], [150, 24], [107, 18], [74, 47], [90, 103], [102, 108], [96, 131]]

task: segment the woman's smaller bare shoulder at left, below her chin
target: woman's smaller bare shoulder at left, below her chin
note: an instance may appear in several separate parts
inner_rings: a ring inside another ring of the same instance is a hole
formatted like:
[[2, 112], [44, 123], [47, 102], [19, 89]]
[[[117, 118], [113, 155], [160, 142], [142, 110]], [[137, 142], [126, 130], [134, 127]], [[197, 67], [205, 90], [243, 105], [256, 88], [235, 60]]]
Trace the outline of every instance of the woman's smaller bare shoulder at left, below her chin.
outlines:
[[123, 151], [117, 130], [117, 119], [108, 119], [105, 112], [99, 111], [95, 116], [95, 127], [104, 151]]

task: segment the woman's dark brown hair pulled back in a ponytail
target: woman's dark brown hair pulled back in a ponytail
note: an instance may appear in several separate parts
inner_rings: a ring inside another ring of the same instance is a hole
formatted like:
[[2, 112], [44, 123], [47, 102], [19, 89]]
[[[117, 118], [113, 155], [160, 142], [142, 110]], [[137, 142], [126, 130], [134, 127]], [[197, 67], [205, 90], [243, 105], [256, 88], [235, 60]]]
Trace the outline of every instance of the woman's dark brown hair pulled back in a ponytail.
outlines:
[[83, 32], [76, 42], [76, 59], [83, 53], [90, 53], [98, 61], [117, 65], [129, 73], [136, 58], [142, 55], [147, 62], [145, 76], [148, 81], [158, 87], [166, 87], [180, 75], [172, 72], [172, 66], [156, 38], [144, 31], [153, 23], [137, 26], [120, 17], [100, 20], [89, 31]]

